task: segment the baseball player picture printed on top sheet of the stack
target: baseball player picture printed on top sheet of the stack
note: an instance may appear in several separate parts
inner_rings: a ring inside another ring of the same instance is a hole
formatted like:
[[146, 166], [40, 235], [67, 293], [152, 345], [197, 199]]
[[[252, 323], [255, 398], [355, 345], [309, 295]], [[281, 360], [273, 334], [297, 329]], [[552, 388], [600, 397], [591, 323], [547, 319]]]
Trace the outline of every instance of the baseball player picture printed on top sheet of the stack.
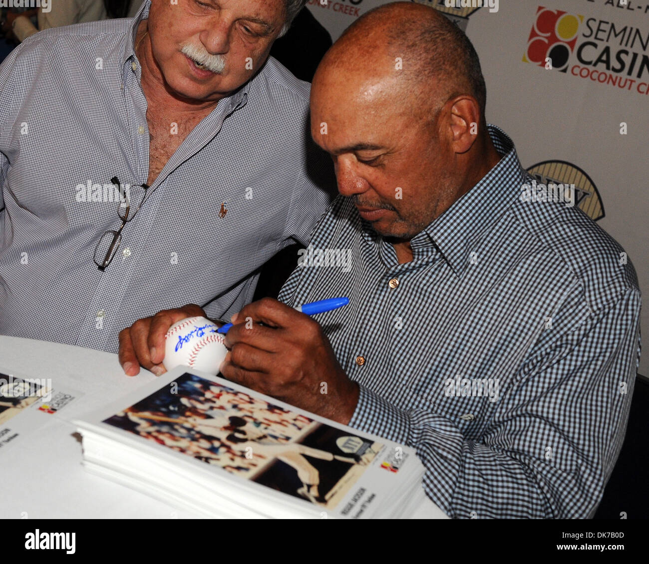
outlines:
[[193, 374], [106, 423], [324, 508], [382, 448], [354, 437], [356, 452], [343, 451], [349, 433]]

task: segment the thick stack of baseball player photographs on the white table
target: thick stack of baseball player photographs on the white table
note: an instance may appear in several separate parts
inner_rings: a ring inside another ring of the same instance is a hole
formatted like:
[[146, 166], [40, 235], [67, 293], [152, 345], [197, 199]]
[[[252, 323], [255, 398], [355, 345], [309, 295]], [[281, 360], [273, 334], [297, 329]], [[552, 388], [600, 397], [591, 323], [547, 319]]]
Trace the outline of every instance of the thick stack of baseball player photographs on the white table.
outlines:
[[187, 367], [75, 423], [88, 471], [205, 517], [398, 518], [424, 496], [412, 448]]

